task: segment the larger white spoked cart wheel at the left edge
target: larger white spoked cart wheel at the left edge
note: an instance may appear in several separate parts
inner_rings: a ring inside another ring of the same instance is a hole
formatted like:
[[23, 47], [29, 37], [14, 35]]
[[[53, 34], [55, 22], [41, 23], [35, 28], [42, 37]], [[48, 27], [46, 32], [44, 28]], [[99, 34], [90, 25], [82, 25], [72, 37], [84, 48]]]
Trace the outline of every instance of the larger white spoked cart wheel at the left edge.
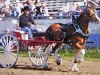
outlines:
[[19, 45], [15, 36], [6, 34], [0, 39], [0, 64], [4, 68], [13, 67], [18, 59]]

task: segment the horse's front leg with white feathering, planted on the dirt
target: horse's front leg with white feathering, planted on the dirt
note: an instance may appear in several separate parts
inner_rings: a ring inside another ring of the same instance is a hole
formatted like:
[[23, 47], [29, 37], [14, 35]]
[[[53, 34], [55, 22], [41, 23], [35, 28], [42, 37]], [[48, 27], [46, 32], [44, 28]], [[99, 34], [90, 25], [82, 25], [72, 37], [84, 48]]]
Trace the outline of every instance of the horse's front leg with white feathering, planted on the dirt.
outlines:
[[72, 71], [78, 71], [77, 63], [80, 63], [84, 60], [85, 50], [84, 49], [78, 49], [76, 51], [76, 55], [74, 58], [74, 62], [72, 65]]

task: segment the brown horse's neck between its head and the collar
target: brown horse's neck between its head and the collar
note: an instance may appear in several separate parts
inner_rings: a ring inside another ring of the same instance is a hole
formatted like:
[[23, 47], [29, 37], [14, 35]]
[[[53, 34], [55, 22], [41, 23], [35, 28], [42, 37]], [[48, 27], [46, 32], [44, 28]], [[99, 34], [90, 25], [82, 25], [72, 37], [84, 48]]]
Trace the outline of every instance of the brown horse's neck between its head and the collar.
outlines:
[[88, 30], [88, 25], [89, 25], [89, 20], [87, 20], [86, 16], [81, 16], [79, 18], [79, 23], [80, 23], [80, 27], [82, 29], [82, 31], [84, 33], [87, 33], [87, 30]]

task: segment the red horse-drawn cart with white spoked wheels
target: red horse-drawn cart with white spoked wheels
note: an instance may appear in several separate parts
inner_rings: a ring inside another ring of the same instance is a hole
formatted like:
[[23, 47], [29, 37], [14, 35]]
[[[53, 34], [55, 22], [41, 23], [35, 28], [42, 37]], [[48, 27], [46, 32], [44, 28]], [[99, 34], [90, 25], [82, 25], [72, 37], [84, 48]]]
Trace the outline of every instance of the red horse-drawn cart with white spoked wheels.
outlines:
[[[43, 33], [37, 33], [38, 35]], [[45, 33], [44, 33], [45, 34]], [[0, 39], [0, 64], [4, 68], [13, 67], [19, 55], [19, 41], [27, 47], [29, 58], [36, 67], [46, 67], [49, 49], [44, 50], [46, 44], [60, 43], [61, 41], [50, 41], [45, 36], [36, 36], [28, 39], [28, 34], [20, 30], [4, 34]], [[32, 47], [32, 49], [29, 49]]]

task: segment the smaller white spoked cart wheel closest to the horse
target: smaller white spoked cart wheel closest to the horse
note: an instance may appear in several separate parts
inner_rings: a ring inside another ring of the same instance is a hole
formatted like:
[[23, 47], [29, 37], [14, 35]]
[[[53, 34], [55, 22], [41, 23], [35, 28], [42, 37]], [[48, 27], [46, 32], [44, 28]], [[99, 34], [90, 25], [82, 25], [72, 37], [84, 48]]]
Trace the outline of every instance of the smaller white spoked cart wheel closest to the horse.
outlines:
[[28, 51], [29, 58], [34, 66], [42, 66], [44, 61], [44, 53], [42, 50], [42, 46], [38, 46], [37, 50]]

